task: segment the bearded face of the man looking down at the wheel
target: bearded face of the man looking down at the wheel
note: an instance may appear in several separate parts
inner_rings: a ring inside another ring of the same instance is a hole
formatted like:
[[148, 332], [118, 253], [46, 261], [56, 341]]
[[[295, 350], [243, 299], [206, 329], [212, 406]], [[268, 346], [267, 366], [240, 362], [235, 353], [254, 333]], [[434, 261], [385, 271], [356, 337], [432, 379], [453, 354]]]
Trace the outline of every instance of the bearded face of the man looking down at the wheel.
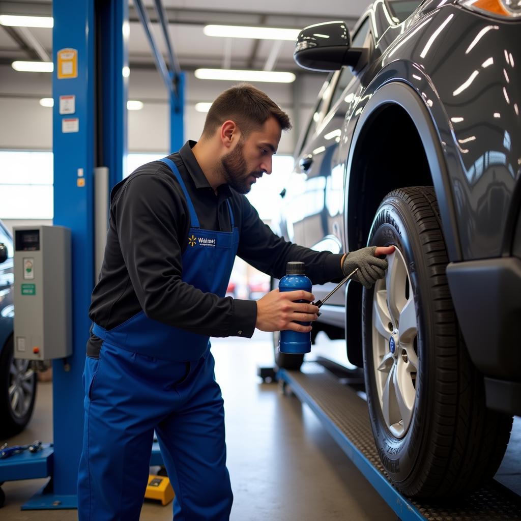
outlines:
[[271, 173], [271, 157], [277, 152], [281, 133], [279, 122], [270, 117], [221, 158], [222, 173], [231, 188], [246, 194], [264, 172]]

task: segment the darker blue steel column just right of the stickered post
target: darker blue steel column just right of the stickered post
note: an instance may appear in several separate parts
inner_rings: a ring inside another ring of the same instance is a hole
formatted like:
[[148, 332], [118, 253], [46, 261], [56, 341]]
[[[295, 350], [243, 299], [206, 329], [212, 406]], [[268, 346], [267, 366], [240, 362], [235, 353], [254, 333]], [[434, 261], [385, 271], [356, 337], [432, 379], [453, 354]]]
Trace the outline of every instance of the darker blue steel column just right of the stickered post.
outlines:
[[96, 4], [98, 33], [98, 162], [108, 167], [109, 188], [123, 179], [127, 162], [128, 2]]

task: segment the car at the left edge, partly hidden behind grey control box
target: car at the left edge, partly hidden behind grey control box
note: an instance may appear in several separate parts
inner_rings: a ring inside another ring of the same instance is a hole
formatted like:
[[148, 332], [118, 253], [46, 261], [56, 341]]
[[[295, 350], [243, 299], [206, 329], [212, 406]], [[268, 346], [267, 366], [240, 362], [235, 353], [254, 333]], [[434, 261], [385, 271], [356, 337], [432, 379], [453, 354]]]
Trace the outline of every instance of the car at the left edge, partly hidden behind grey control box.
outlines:
[[13, 238], [0, 221], [0, 439], [20, 432], [31, 419], [36, 374], [28, 360], [13, 358]]

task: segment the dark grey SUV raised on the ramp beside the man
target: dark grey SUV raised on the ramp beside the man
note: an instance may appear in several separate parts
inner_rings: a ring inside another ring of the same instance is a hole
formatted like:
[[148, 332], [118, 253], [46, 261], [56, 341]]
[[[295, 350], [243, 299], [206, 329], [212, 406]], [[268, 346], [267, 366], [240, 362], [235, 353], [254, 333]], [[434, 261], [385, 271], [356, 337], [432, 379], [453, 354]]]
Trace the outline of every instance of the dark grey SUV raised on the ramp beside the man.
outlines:
[[506, 0], [379, 0], [351, 37], [336, 21], [296, 43], [297, 63], [334, 72], [278, 231], [333, 253], [396, 246], [386, 278], [350, 282], [314, 329], [345, 334], [364, 367], [380, 459], [406, 495], [491, 478], [521, 413], [520, 31]]

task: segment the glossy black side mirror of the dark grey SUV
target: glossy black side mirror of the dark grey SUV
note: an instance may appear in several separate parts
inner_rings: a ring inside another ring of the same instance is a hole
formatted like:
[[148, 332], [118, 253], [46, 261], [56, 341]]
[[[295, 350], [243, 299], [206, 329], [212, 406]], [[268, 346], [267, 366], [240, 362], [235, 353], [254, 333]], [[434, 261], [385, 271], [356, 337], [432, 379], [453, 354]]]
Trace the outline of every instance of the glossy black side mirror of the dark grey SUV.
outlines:
[[302, 29], [293, 53], [297, 64], [317, 71], [339, 70], [346, 65], [360, 68], [361, 58], [367, 56], [368, 49], [351, 47], [348, 24], [341, 20], [316, 23]]

